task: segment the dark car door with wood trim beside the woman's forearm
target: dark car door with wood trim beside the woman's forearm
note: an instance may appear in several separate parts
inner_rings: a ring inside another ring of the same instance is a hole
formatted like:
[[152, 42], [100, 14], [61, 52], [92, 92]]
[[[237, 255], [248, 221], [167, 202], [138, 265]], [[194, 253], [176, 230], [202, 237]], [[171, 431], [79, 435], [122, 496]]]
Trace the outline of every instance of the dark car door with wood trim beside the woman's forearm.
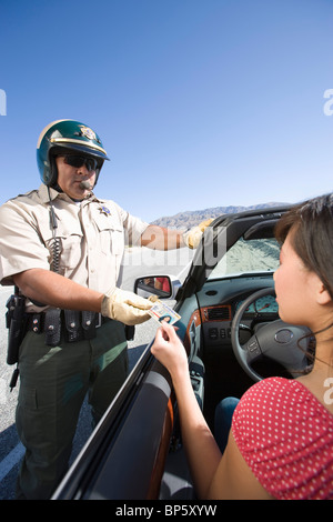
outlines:
[[149, 350], [52, 499], [154, 499], [173, 425], [171, 383]]

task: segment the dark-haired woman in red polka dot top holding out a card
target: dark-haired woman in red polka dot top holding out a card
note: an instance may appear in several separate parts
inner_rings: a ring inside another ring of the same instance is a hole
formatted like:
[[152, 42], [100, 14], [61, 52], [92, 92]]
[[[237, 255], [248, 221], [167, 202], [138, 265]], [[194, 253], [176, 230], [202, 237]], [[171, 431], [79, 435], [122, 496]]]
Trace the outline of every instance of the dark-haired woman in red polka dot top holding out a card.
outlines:
[[[333, 499], [333, 194], [294, 207], [278, 223], [279, 314], [316, 338], [311, 373], [270, 378], [235, 408], [223, 454], [202, 415], [174, 329], [152, 353], [169, 370], [196, 494], [203, 499]], [[331, 400], [330, 400], [331, 398]]]

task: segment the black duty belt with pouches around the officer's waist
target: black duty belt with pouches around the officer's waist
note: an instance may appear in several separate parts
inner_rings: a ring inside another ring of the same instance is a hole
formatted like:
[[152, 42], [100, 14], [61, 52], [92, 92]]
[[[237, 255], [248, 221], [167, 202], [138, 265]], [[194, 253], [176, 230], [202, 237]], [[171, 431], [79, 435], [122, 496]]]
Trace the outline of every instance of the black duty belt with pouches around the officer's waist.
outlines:
[[110, 321], [100, 313], [51, 309], [42, 313], [28, 313], [27, 331], [46, 334], [46, 344], [57, 347], [61, 335], [67, 342], [93, 339], [95, 330]]

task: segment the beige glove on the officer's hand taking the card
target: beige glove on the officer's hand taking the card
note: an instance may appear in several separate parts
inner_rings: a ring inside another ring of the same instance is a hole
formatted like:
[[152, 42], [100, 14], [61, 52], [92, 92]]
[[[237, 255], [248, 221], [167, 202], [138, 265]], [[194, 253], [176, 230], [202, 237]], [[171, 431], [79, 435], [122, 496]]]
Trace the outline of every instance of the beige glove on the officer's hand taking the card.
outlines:
[[148, 299], [115, 288], [104, 295], [101, 313], [130, 327], [148, 321], [150, 314], [147, 310], [150, 310], [152, 305], [153, 303]]

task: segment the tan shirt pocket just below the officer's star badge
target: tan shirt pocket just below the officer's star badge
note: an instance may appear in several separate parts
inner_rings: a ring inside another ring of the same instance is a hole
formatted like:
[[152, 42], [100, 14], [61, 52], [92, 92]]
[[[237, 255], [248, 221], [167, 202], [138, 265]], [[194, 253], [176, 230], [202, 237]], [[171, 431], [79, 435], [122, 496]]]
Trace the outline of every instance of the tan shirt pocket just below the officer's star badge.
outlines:
[[98, 215], [95, 225], [99, 231], [100, 248], [105, 255], [122, 255], [124, 250], [124, 233], [120, 223], [107, 215]]

